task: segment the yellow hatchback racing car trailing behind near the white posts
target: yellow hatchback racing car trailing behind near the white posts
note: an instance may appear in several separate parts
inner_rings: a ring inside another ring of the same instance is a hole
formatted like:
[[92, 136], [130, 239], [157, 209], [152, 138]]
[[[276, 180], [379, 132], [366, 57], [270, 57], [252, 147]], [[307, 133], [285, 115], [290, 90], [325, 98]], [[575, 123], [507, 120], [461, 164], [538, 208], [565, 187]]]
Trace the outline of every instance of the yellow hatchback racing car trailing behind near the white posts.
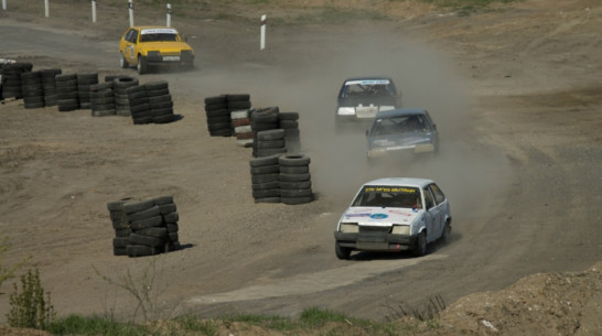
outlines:
[[175, 64], [192, 68], [194, 51], [178, 31], [170, 26], [131, 26], [119, 42], [119, 65], [136, 65], [140, 75], [149, 66]]

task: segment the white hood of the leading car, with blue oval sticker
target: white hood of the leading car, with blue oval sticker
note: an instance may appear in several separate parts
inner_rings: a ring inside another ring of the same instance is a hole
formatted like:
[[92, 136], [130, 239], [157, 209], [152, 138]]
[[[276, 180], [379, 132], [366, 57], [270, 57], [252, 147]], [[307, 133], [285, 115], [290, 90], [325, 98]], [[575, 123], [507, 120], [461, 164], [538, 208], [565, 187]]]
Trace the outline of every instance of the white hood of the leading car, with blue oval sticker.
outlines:
[[341, 217], [341, 221], [369, 226], [410, 225], [420, 218], [423, 212], [408, 208], [350, 207]]

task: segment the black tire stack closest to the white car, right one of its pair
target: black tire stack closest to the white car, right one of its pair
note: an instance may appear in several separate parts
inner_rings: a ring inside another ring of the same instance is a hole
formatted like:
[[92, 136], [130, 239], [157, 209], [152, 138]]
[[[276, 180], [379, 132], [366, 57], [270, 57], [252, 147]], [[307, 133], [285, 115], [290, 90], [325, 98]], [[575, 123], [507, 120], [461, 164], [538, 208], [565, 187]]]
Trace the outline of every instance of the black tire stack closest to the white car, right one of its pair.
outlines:
[[278, 158], [281, 203], [295, 205], [313, 200], [310, 162], [310, 158], [303, 154]]

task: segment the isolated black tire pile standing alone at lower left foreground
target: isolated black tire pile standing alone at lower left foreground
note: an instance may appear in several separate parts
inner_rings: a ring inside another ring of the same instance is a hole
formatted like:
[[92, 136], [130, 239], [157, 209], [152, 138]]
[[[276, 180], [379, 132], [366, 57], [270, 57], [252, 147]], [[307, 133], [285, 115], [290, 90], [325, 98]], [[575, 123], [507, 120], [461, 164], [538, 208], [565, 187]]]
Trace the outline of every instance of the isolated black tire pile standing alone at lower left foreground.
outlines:
[[172, 196], [107, 203], [115, 230], [115, 256], [144, 257], [181, 248], [179, 215]]

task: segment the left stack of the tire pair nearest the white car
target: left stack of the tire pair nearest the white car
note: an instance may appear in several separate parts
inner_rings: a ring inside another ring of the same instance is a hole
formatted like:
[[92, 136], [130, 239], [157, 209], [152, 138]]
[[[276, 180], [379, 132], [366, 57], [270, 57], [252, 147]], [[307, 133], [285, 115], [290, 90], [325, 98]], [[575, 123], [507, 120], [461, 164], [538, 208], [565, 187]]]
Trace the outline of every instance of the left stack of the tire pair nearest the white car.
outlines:
[[280, 203], [279, 154], [249, 161], [255, 203]]

